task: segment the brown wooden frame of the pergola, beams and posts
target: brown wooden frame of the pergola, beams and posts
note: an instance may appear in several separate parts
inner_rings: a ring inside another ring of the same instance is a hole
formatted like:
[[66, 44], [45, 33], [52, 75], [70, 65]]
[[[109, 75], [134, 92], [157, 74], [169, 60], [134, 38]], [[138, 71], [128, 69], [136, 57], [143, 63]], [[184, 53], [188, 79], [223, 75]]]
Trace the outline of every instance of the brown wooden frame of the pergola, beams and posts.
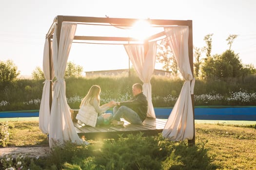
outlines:
[[[113, 26], [113, 27], [132, 27], [134, 23], [136, 23], [138, 20], [136, 18], [111, 18], [111, 17], [77, 17], [77, 16], [57, 16], [54, 18], [53, 24], [50, 27], [48, 33], [46, 34], [46, 39], [48, 39], [49, 47], [51, 47], [51, 41], [53, 39], [53, 33], [54, 33], [54, 23], [57, 24], [57, 44], [59, 48], [59, 37], [60, 37], [60, 31], [61, 31], [61, 25], [63, 22], [72, 22], [84, 25], [97, 25], [97, 26]], [[189, 62], [191, 71], [193, 74], [193, 26], [192, 26], [192, 20], [166, 20], [166, 19], [144, 19], [152, 27], [168, 27], [168, 26], [188, 26], [189, 28], [189, 39], [188, 39], [188, 52], [189, 52]], [[102, 30], [104, 31], [104, 30]], [[86, 34], [86, 33], [84, 33]], [[93, 41], [93, 42], [105, 42], [104, 44], [108, 44], [108, 42], [137, 42], [138, 40], [134, 37], [129, 36], [97, 36], [96, 35], [88, 34], [88, 35], [76, 35], [74, 37], [74, 41]], [[144, 48], [147, 49], [147, 45], [149, 41], [158, 40], [161, 37], [164, 37], [165, 33], [164, 31], [159, 32], [157, 34], [152, 34], [144, 41]], [[50, 61], [50, 70], [52, 67], [52, 53], [51, 48], [49, 48], [49, 61]], [[50, 75], [51, 72], [50, 72]], [[51, 77], [52, 79], [52, 77]], [[50, 89], [50, 96], [52, 96], [52, 89]], [[193, 115], [194, 115], [194, 95], [191, 95], [192, 103], [193, 103]], [[50, 108], [51, 108], [52, 99], [50, 98]], [[195, 144], [195, 118], [194, 118], [194, 137], [192, 140], [188, 140], [189, 145]]]

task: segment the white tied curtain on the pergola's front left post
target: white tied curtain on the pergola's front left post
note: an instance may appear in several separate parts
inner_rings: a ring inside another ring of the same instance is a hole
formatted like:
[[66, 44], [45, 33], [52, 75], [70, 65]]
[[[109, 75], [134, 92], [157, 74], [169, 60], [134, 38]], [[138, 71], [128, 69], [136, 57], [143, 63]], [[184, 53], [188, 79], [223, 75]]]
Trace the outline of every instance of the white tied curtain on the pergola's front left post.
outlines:
[[67, 64], [69, 51], [76, 32], [77, 24], [62, 23], [59, 49], [57, 45], [57, 27], [53, 38], [53, 63], [55, 77], [53, 89], [53, 102], [50, 115], [49, 126], [49, 145], [50, 147], [62, 145], [65, 141], [80, 144], [82, 140], [79, 138], [73, 121], [71, 119], [70, 107], [66, 100], [66, 84], [64, 73]]

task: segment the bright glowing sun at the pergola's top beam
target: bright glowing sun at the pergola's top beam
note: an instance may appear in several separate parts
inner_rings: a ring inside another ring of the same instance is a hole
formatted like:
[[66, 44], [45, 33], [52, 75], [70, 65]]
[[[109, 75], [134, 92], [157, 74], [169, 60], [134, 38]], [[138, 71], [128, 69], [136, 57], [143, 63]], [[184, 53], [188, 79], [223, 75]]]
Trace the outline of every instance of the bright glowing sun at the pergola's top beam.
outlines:
[[130, 29], [130, 35], [140, 41], [144, 41], [150, 36], [151, 25], [146, 20], [138, 20]]

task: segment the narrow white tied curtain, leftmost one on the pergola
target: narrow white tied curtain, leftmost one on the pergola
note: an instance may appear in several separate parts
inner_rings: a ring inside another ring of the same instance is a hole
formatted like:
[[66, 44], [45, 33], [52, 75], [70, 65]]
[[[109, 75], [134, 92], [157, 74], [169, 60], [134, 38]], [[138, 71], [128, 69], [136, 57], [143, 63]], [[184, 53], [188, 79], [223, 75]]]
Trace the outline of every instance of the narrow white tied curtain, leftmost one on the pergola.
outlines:
[[[43, 82], [43, 90], [42, 90], [42, 98], [41, 98], [41, 103], [40, 103], [40, 109], [39, 109], [39, 129], [42, 131], [44, 134], [49, 133], [49, 119], [50, 119], [50, 86], [51, 86], [51, 81], [54, 78], [54, 69], [53, 66], [51, 66], [51, 71], [50, 71], [50, 66], [49, 63], [53, 63], [52, 61], [49, 62], [49, 40], [45, 39], [44, 43], [44, 50], [43, 50], [43, 74], [45, 81]], [[52, 50], [51, 50], [52, 53]], [[52, 55], [52, 54], [51, 54]], [[52, 59], [52, 57], [51, 57]], [[51, 72], [51, 76], [50, 76]], [[52, 77], [52, 79], [50, 79]]]

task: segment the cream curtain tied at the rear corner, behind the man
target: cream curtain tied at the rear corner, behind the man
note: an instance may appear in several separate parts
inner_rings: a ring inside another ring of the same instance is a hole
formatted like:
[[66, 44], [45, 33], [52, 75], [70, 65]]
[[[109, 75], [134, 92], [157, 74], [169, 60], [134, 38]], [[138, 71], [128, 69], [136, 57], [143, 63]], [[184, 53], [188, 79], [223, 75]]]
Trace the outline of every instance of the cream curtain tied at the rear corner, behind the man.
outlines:
[[152, 104], [152, 86], [150, 83], [156, 63], [157, 43], [156, 41], [149, 43], [146, 54], [143, 44], [124, 45], [124, 48], [138, 74], [143, 82], [143, 94], [148, 100], [147, 117], [156, 118], [155, 110]]

